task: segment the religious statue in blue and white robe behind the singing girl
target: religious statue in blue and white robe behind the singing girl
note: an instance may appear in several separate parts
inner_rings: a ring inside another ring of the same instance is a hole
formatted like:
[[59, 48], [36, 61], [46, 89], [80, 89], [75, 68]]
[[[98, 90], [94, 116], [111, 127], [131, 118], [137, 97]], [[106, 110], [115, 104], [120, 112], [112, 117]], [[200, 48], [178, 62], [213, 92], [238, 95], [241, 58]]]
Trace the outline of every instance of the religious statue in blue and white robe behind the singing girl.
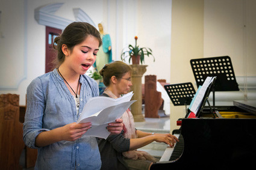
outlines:
[[96, 61], [93, 67], [97, 71], [101, 70], [105, 64], [112, 61], [112, 50], [111, 50], [111, 38], [110, 35], [104, 32], [102, 23], [98, 24], [99, 32], [101, 33], [102, 46], [99, 47], [99, 52], [97, 53]]

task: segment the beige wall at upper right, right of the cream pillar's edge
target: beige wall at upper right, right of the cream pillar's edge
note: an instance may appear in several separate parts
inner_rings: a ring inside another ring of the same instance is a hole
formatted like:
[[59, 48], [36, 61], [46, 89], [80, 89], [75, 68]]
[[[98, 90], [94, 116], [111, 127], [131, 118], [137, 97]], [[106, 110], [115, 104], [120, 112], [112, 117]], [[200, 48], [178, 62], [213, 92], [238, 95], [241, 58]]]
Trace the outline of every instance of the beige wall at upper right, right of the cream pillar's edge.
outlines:
[[256, 1], [204, 1], [204, 57], [231, 57], [236, 76], [256, 75]]

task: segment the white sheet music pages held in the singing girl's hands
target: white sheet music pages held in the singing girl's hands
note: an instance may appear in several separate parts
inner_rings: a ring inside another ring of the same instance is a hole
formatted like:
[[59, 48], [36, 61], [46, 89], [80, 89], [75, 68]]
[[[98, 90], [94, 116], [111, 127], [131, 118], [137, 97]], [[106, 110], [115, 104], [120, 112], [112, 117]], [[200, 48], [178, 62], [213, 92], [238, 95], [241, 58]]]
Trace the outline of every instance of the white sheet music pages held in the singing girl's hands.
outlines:
[[108, 123], [120, 118], [136, 100], [131, 100], [133, 92], [122, 97], [92, 97], [83, 108], [82, 114], [76, 123], [92, 123], [92, 128], [84, 133], [85, 136], [95, 136], [106, 139], [110, 132], [106, 129]]

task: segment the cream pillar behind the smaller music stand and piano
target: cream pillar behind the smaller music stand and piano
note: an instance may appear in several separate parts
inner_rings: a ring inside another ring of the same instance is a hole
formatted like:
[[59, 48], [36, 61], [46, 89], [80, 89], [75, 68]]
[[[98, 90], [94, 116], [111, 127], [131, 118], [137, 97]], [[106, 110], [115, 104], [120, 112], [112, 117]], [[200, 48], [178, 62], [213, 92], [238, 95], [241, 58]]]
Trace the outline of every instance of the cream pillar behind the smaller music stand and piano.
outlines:
[[[204, 54], [204, 1], [172, 1], [170, 83], [195, 82], [190, 59]], [[195, 85], [194, 85], [195, 87]], [[195, 87], [196, 89], [196, 87]], [[170, 105], [170, 130], [186, 115], [185, 106]]]

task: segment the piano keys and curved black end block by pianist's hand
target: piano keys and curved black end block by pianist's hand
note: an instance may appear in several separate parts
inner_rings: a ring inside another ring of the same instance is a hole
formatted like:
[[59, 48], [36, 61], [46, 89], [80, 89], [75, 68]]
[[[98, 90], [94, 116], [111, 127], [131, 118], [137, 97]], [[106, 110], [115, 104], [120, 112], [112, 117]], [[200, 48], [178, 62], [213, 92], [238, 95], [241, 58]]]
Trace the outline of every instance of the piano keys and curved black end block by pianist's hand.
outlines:
[[168, 146], [164, 151], [163, 156], [161, 156], [161, 159], [159, 160], [159, 162], [176, 160], [183, 153], [183, 148], [184, 148], [183, 136], [180, 134], [174, 134], [174, 135], [179, 139], [180, 142], [176, 143], [172, 148]]

